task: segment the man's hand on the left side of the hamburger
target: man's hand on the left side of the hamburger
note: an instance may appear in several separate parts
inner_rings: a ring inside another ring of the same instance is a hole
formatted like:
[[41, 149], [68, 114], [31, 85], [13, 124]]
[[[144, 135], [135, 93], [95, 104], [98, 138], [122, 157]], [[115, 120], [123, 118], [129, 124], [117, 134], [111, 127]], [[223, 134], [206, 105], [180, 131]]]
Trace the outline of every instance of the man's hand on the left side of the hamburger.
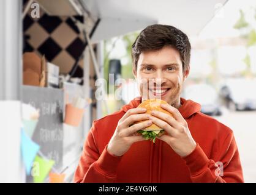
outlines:
[[[138, 130], [145, 129], [152, 124], [152, 121], [149, 120], [150, 115], [145, 112], [146, 108], [132, 108], [122, 116], [118, 121], [113, 137], [108, 143], [107, 151], [110, 154], [115, 156], [124, 155], [133, 143], [145, 140], [141, 135], [137, 135]], [[136, 121], [143, 120], [146, 121], [134, 124]], [[134, 125], [130, 126], [131, 124]]]

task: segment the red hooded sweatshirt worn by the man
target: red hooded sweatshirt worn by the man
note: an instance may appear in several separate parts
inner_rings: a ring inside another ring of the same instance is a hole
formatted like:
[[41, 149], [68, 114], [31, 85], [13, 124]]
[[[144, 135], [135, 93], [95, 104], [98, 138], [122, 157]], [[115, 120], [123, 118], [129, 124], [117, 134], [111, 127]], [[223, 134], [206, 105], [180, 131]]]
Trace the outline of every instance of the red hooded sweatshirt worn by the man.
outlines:
[[135, 98], [93, 122], [74, 182], [244, 182], [232, 130], [200, 113], [200, 104], [183, 98], [178, 110], [197, 142], [191, 154], [182, 158], [158, 139], [134, 143], [122, 157], [109, 154], [107, 144], [119, 119], [140, 103]]

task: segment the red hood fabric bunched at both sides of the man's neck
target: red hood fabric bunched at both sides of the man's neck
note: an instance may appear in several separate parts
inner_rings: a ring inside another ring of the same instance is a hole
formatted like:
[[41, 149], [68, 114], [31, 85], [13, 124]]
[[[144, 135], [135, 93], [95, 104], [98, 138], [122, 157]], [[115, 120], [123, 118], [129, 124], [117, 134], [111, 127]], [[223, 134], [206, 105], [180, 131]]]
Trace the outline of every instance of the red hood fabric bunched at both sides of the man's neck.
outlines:
[[[131, 108], [137, 108], [141, 103], [141, 97], [134, 98], [129, 104], [124, 105], [121, 110], [127, 112]], [[186, 100], [181, 98], [181, 107], [178, 108], [179, 112], [183, 116], [184, 119], [189, 118], [194, 115], [194, 113], [200, 112], [201, 105], [197, 102], [194, 102], [190, 99]]]

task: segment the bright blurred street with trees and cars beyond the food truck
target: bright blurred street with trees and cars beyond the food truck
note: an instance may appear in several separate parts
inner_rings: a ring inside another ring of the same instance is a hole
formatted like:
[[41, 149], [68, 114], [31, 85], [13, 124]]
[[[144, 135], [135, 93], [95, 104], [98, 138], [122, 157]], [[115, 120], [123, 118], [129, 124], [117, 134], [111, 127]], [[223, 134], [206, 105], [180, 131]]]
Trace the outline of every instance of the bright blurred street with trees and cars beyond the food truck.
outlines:
[[[219, 12], [198, 35], [189, 36], [190, 75], [182, 97], [200, 103], [202, 113], [234, 131], [244, 179], [256, 182], [256, 3], [230, 0], [215, 6]], [[121, 87], [121, 101], [108, 102], [111, 112], [138, 96], [135, 80], [129, 82], [134, 78], [130, 48], [138, 33], [104, 41], [105, 78], [111, 60], [116, 59], [121, 63], [121, 77], [127, 80]]]

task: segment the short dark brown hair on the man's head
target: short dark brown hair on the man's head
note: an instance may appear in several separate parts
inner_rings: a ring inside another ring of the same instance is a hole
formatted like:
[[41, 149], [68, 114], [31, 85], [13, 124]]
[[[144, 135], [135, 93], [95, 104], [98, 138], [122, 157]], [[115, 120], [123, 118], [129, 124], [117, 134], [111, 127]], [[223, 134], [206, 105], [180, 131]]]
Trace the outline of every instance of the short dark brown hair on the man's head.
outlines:
[[181, 56], [183, 73], [189, 68], [191, 46], [189, 38], [181, 30], [173, 26], [154, 24], [142, 30], [132, 44], [132, 61], [137, 70], [138, 58], [141, 52], [154, 51], [170, 46]]

